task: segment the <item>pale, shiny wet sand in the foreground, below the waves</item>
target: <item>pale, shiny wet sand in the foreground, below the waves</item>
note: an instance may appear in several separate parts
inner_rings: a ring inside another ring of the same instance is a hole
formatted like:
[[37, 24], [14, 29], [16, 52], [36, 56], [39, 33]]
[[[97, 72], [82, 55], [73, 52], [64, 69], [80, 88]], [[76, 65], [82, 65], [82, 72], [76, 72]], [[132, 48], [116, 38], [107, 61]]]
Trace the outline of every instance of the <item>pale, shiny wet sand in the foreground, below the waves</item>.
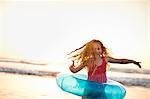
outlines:
[[[149, 99], [150, 88], [125, 86], [125, 99]], [[0, 73], [0, 99], [81, 99], [63, 92], [54, 77]]]

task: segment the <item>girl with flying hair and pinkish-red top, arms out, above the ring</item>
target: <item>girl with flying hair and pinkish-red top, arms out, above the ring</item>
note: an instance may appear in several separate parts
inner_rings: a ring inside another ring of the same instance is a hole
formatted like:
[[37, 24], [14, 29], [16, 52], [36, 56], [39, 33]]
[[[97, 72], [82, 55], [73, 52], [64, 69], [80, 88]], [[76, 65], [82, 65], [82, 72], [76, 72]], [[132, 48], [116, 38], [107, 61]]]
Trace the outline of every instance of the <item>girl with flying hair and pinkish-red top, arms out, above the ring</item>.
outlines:
[[[105, 83], [107, 81], [106, 66], [108, 62], [119, 64], [133, 63], [141, 68], [140, 62], [135, 60], [110, 57], [103, 43], [95, 39], [87, 42], [75, 51], [72, 51], [69, 55], [71, 55], [70, 58], [72, 58], [73, 62], [69, 67], [71, 72], [77, 73], [81, 69], [87, 68], [88, 80], [100, 83]], [[76, 66], [74, 61], [76, 62]], [[82, 97], [82, 99], [86, 98]]]

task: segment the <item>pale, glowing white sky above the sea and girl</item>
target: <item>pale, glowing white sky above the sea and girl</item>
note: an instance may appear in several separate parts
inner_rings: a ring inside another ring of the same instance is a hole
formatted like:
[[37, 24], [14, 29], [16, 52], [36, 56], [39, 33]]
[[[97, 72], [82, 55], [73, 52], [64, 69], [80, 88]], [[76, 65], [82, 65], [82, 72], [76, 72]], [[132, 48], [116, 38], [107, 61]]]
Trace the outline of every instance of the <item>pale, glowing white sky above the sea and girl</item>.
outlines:
[[150, 3], [148, 0], [107, 1], [1, 2], [0, 57], [59, 62], [68, 52], [95, 38], [114, 57], [135, 59], [147, 68]]

